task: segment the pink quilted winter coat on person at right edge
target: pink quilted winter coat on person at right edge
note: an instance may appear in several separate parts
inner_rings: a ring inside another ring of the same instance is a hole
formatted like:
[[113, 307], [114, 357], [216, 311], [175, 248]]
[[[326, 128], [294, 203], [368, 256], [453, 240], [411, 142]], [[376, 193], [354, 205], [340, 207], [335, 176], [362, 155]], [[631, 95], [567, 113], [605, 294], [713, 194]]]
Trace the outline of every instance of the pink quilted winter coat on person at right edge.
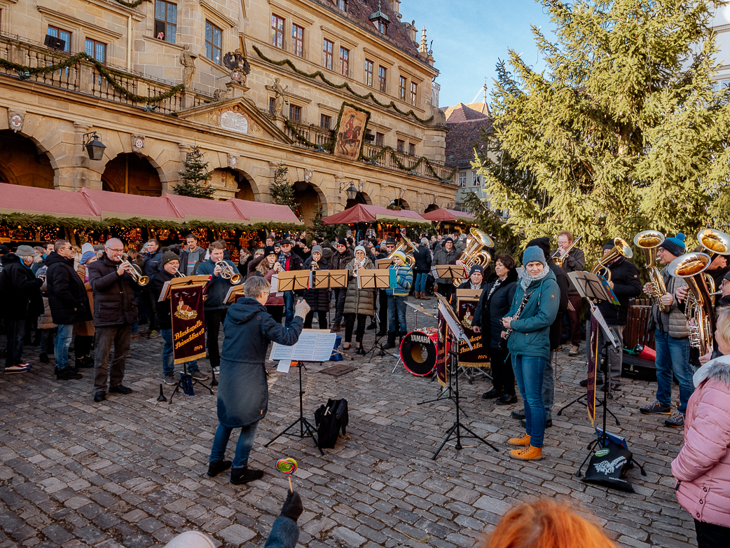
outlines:
[[680, 506], [697, 521], [723, 527], [730, 527], [729, 358], [697, 371], [696, 381], [705, 378], [689, 398], [685, 443], [672, 462]]

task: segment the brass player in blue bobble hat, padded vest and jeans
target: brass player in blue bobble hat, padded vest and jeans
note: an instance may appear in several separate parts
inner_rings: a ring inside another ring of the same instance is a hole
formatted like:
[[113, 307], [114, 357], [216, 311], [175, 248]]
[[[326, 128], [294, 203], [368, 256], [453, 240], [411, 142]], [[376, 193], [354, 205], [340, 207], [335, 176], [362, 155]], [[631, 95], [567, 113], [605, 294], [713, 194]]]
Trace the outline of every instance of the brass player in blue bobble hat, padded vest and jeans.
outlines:
[[[685, 236], [680, 232], [675, 237], [666, 238], [661, 246], [656, 248], [656, 258], [660, 265], [661, 277], [664, 278], [666, 294], [661, 297], [661, 302], [669, 306], [669, 311], [662, 312], [655, 304], [651, 307], [651, 318], [648, 329], [654, 330], [654, 343], [656, 344], [656, 401], [648, 406], [639, 408], [643, 414], [664, 414], [669, 415], [672, 411], [672, 373], [677, 377], [680, 384], [680, 405], [677, 412], [664, 421], [666, 426], [680, 428], [684, 427], [684, 416], [687, 410], [687, 402], [694, 392], [692, 376], [694, 370], [689, 364], [689, 333], [687, 330], [687, 319], [677, 302], [677, 290], [684, 295], [680, 288], [686, 285], [684, 278], [675, 278], [669, 275], [669, 265], [678, 256], [685, 253]], [[644, 286], [644, 292], [648, 294], [652, 288], [650, 283]]]

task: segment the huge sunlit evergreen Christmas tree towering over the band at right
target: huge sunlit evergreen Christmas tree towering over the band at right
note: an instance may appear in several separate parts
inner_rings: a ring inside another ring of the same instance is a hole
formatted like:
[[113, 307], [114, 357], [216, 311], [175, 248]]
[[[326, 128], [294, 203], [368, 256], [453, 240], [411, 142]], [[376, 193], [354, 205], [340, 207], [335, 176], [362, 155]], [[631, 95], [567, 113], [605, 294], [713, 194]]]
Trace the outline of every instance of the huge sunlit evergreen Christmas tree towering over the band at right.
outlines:
[[545, 71], [514, 51], [497, 67], [501, 151], [475, 158], [493, 207], [509, 210], [522, 242], [562, 229], [583, 235], [589, 263], [610, 238], [642, 229], [723, 229], [730, 95], [712, 83], [715, 4], [543, 5], [557, 37], [533, 27]]

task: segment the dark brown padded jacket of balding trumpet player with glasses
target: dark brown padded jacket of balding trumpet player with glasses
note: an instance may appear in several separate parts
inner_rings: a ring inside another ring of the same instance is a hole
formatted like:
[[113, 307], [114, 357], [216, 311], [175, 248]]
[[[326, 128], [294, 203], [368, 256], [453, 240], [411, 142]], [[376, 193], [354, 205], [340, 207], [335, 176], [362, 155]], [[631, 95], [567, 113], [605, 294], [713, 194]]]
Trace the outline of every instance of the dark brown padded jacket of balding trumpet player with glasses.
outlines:
[[117, 275], [118, 262], [107, 254], [89, 265], [89, 283], [93, 289], [93, 324], [96, 327], [134, 324], [137, 321], [137, 283], [128, 273]]

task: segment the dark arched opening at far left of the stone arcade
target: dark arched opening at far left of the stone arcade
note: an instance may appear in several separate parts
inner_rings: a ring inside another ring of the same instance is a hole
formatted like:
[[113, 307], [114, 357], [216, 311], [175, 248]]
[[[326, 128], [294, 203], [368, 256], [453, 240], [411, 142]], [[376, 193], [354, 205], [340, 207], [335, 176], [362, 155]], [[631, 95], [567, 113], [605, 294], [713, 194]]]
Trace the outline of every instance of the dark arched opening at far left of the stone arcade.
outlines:
[[53, 156], [34, 137], [0, 130], [0, 178], [3, 182], [41, 189], [57, 186], [58, 166]]

